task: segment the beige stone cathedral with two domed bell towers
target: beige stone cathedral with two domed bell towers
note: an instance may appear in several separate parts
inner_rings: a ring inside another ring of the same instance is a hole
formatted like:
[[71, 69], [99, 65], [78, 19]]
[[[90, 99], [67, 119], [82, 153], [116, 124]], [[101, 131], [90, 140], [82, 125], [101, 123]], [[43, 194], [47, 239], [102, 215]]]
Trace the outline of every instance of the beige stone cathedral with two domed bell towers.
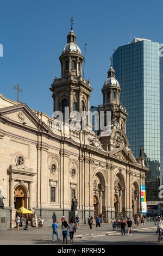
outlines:
[[[64, 115], [65, 107], [81, 116], [89, 111], [92, 88], [82, 77], [83, 60], [71, 28], [60, 56], [61, 78], [55, 77], [50, 88], [54, 113]], [[112, 66], [102, 93], [98, 112], [110, 111], [111, 130], [99, 136], [91, 129], [89, 115], [86, 130], [79, 130], [0, 94], [0, 185], [8, 227], [14, 227], [21, 206], [41, 216], [45, 225], [52, 224], [54, 211], [58, 220], [62, 215], [68, 220], [74, 196], [83, 223], [89, 216], [108, 222], [140, 215], [140, 185], [145, 185], [148, 168], [129, 149], [128, 114]]]

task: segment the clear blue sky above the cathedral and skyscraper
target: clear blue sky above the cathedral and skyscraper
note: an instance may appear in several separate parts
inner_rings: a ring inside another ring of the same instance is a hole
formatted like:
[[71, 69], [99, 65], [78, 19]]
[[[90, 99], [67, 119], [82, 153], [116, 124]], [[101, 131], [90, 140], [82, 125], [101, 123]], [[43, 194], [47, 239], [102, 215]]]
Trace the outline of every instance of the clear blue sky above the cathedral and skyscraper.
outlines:
[[162, 1], [1, 1], [0, 93], [16, 100], [16, 84], [23, 93], [20, 101], [52, 116], [49, 90], [55, 75], [60, 77], [59, 56], [74, 20], [77, 44], [84, 55], [85, 78], [93, 92], [90, 106], [103, 102], [102, 86], [110, 67], [113, 49], [134, 36], [163, 43]]

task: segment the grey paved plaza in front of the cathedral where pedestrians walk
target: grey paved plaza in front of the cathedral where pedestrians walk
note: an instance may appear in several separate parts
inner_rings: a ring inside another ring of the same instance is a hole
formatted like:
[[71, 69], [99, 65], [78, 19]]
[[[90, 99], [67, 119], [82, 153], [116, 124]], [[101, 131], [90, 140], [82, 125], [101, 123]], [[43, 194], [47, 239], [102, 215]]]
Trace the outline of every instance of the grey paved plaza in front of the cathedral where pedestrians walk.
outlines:
[[[127, 228], [126, 228], [127, 233]], [[29, 230], [10, 229], [0, 231], [0, 245], [62, 245], [62, 234], [59, 226], [59, 238], [52, 241], [52, 228], [29, 228]], [[68, 244], [70, 244], [70, 236], [68, 234]], [[110, 224], [102, 224], [101, 229], [93, 226], [90, 230], [87, 224], [83, 224], [77, 228], [74, 235], [73, 245], [163, 245], [158, 242], [156, 235], [156, 226], [153, 222], [147, 222], [146, 228], [133, 228], [133, 234], [130, 236], [122, 236], [121, 229], [112, 230]]]

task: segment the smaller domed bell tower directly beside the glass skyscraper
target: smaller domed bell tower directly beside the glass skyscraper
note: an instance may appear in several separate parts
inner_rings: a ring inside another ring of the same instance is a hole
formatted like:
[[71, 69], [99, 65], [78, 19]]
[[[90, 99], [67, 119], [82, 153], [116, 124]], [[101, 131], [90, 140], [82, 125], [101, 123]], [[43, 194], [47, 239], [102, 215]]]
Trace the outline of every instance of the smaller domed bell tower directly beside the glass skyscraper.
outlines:
[[120, 102], [121, 87], [115, 78], [115, 70], [111, 67], [108, 71], [108, 78], [104, 82], [103, 88], [103, 106], [99, 106], [98, 112], [105, 112], [105, 126], [106, 112], [111, 112], [111, 129], [121, 129], [126, 133], [127, 111], [122, 107]]

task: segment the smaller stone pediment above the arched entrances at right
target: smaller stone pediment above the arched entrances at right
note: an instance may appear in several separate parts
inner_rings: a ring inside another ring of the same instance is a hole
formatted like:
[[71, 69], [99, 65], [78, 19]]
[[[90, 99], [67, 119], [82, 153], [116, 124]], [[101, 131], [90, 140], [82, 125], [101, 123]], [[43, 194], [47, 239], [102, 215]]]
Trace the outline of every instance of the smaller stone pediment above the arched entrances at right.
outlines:
[[137, 164], [135, 157], [126, 150], [125, 147], [114, 149], [110, 152], [109, 156], [116, 157], [125, 162]]

